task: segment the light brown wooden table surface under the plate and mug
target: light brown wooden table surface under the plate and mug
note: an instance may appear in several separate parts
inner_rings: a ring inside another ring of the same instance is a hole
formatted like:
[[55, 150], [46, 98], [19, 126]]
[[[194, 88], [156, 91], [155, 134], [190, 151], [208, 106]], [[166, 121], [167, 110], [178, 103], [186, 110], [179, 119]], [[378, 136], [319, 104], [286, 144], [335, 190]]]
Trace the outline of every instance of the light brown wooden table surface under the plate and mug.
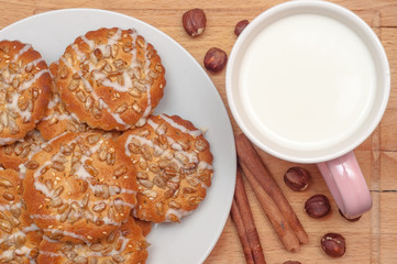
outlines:
[[[124, 13], [143, 20], [179, 42], [201, 65], [207, 50], [217, 46], [230, 53], [236, 37], [234, 25], [243, 19], [253, 20], [282, 0], [0, 0], [0, 29], [32, 14], [64, 8], [98, 8]], [[306, 228], [310, 242], [299, 253], [285, 251], [260, 208], [252, 189], [246, 185], [256, 227], [267, 263], [282, 264], [287, 260], [301, 263], [397, 263], [397, 1], [396, 0], [333, 0], [351, 9], [377, 33], [385, 46], [392, 67], [392, 94], [381, 125], [370, 139], [355, 150], [359, 163], [370, 186], [374, 206], [357, 222], [343, 219], [332, 201], [331, 213], [321, 220], [310, 219], [304, 211], [305, 201], [315, 194], [331, 197], [315, 165], [302, 165], [312, 175], [312, 184], [305, 193], [293, 193], [283, 183], [283, 175], [293, 165], [263, 152], [269, 170], [276, 177], [287, 199]], [[207, 29], [196, 38], [181, 28], [186, 10], [201, 8], [207, 14]], [[210, 75], [228, 111], [224, 72]], [[230, 111], [229, 111], [230, 114]], [[230, 114], [231, 117], [231, 114]], [[240, 133], [231, 117], [234, 132]], [[339, 260], [328, 257], [320, 249], [320, 238], [327, 232], [340, 232], [346, 239], [346, 254]], [[244, 263], [244, 256], [233, 222], [228, 220], [223, 233], [206, 261], [207, 264]]]

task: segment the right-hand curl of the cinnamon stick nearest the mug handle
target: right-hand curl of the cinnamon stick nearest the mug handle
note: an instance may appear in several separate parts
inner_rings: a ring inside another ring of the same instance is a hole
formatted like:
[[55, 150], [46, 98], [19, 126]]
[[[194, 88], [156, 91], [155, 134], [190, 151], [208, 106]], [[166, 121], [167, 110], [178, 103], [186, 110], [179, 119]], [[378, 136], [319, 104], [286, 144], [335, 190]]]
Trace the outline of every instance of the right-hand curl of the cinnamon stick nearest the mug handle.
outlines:
[[266, 166], [263, 164], [262, 158], [256, 153], [249, 139], [244, 134], [240, 134], [236, 136], [235, 145], [239, 162], [252, 173], [262, 188], [269, 197], [272, 197], [299, 241], [304, 244], [307, 243], [308, 235], [298, 217], [295, 215], [289, 202], [285, 198], [273, 176], [267, 170]]

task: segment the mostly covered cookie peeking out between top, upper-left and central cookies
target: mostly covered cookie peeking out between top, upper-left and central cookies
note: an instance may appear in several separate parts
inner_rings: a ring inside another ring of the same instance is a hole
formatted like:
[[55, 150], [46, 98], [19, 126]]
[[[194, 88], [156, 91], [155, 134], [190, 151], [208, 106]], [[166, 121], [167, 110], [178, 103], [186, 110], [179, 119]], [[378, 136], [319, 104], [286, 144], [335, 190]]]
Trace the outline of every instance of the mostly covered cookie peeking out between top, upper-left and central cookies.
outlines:
[[[58, 62], [49, 65], [49, 73], [53, 79], [58, 72]], [[51, 140], [64, 132], [79, 132], [85, 133], [90, 129], [86, 123], [80, 122], [76, 114], [70, 113], [65, 105], [60, 101], [57, 86], [53, 84], [53, 95], [45, 110], [45, 114], [37, 123], [37, 130], [42, 133], [45, 140]]]

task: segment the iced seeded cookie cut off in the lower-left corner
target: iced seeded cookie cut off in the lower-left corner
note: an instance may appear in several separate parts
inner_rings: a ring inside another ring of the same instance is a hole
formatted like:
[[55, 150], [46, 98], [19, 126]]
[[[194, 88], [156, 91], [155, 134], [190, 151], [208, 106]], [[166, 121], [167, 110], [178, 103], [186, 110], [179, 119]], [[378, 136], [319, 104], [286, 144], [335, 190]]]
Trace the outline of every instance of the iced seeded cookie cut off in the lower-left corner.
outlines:
[[35, 263], [43, 234], [26, 212], [15, 170], [0, 170], [0, 263]]

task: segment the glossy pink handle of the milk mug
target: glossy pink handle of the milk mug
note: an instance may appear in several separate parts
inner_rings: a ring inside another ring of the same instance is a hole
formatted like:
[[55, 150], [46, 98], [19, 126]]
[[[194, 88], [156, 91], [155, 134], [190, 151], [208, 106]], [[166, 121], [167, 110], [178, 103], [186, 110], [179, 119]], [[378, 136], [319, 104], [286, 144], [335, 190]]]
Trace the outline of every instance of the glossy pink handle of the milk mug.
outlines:
[[342, 213], [360, 217], [372, 207], [372, 197], [353, 151], [317, 164]]

